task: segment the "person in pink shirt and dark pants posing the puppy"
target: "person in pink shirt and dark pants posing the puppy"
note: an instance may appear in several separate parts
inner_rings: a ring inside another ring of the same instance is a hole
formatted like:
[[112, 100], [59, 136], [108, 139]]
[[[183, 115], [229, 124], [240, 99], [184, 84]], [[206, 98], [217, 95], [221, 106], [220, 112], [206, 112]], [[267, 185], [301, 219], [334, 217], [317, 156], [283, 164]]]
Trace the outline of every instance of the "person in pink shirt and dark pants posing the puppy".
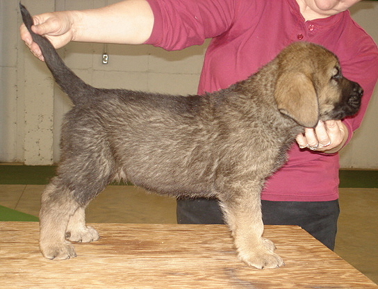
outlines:
[[[261, 193], [264, 224], [302, 226], [334, 249], [338, 206], [338, 151], [359, 128], [378, 78], [378, 49], [349, 11], [359, 0], [126, 0], [103, 8], [44, 13], [33, 31], [54, 47], [70, 41], [153, 44], [184, 49], [212, 38], [198, 93], [246, 79], [291, 42], [321, 44], [340, 58], [343, 75], [365, 91], [361, 110], [343, 121], [319, 122], [297, 136], [288, 162]], [[21, 26], [22, 40], [42, 53]], [[180, 223], [220, 224], [216, 200], [179, 199]]]

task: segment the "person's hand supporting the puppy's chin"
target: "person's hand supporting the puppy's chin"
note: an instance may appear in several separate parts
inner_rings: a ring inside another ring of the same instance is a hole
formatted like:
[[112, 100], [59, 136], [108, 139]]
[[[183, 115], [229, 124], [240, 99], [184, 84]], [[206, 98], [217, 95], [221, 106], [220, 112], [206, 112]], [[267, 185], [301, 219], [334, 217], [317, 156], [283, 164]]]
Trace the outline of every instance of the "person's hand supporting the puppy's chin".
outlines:
[[318, 122], [315, 129], [306, 128], [304, 133], [297, 135], [297, 143], [301, 149], [309, 148], [333, 154], [339, 151], [347, 141], [347, 127], [340, 120]]

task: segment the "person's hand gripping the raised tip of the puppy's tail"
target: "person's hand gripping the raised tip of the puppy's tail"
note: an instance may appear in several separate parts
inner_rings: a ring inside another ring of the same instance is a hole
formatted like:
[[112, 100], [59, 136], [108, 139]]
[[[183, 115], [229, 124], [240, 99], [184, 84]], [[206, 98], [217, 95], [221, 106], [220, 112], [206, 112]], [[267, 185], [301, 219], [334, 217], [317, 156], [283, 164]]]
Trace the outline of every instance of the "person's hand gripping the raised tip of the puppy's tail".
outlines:
[[[34, 25], [31, 30], [44, 36], [58, 49], [74, 39], [74, 16], [72, 11], [62, 11], [56, 13], [44, 13], [33, 16]], [[44, 60], [42, 51], [38, 44], [33, 42], [31, 34], [24, 24], [19, 28], [21, 38], [34, 56]]]

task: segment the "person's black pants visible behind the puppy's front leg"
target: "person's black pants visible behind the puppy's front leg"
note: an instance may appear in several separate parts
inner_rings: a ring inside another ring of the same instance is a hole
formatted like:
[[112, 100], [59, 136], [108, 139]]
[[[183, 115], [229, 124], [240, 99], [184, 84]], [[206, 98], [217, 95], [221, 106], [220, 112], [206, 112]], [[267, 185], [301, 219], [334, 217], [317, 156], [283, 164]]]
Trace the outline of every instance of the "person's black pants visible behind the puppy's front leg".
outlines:
[[[265, 225], [297, 225], [333, 250], [340, 213], [336, 201], [261, 201]], [[215, 199], [177, 200], [179, 224], [224, 224]]]

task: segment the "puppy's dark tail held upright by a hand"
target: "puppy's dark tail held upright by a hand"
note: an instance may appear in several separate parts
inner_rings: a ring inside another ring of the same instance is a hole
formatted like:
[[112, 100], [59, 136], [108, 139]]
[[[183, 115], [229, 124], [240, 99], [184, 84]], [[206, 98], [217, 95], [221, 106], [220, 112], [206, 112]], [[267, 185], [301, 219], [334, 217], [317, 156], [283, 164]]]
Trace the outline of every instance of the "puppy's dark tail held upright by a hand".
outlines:
[[19, 9], [21, 10], [22, 20], [24, 21], [26, 28], [28, 28], [28, 31], [31, 33], [33, 41], [40, 46], [44, 61], [53, 74], [56, 83], [58, 83], [60, 88], [67, 93], [74, 105], [84, 104], [85, 102], [90, 101], [90, 96], [96, 95], [94, 93], [96, 88], [86, 84], [65, 65], [62, 58], [60, 58], [56, 52], [56, 49], [47, 38], [31, 31], [33, 18], [22, 3], [19, 3]]

